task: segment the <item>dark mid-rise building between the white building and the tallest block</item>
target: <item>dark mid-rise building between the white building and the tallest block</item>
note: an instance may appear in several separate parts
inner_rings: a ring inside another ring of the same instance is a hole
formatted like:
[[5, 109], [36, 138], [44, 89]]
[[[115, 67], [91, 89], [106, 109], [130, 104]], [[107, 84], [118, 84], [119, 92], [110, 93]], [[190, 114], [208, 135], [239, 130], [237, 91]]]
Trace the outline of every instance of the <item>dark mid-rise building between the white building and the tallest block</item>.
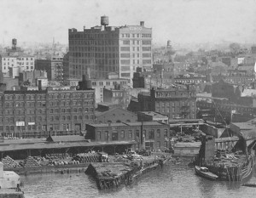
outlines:
[[49, 81], [63, 83], [63, 58], [36, 59], [36, 70], [46, 71]]

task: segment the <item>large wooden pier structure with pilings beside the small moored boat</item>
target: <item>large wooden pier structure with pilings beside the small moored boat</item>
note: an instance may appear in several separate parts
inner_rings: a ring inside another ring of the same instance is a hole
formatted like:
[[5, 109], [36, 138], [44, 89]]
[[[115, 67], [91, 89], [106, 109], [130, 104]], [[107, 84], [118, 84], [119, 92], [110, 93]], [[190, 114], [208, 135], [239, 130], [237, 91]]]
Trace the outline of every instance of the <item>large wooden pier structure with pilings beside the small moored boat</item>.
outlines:
[[[243, 139], [240, 139], [241, 142]], [[241, 154], [225, 154], [219, 157], [215, 154], [214, 138], [206, 136], [202, 141], [199, 156], [196, 157], [196, 165], [207, 167], [211, 173], [218, 176], [219, 180], [241, 181], [242, 183], [253, 173], [253, 166], [256, 163], [254, 145], [247, 147], [241, 144]], [[226, 151], [225, 151], [226, 152]], [[230, 156], [230, 158], [228, 157]]]

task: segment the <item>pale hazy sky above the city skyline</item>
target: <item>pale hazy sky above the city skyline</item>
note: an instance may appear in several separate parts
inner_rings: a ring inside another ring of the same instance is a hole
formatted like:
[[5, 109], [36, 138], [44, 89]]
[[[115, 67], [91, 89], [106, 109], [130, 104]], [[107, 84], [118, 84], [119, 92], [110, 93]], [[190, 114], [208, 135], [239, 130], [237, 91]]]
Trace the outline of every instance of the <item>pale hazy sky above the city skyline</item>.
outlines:
[[255, 0], [1, 0], [0, 43], [67, 43], [68, 28], [100, 25], [153, 28], [154, 43], [256, 42]]

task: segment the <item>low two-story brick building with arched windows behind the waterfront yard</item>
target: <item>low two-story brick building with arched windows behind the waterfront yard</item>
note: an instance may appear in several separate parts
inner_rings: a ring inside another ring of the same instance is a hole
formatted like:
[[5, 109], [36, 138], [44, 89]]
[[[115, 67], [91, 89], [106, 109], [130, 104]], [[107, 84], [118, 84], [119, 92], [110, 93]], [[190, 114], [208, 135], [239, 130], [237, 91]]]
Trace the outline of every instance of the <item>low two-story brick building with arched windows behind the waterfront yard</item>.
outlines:
[[99, 142], [135, 140], [137, 144], [134, 149], [141, 148], [142, 144], [145, 144], [147, 150], [166, 150], [170, 147], [169, 128], [161, 122], [87, 124], [85, 139]]

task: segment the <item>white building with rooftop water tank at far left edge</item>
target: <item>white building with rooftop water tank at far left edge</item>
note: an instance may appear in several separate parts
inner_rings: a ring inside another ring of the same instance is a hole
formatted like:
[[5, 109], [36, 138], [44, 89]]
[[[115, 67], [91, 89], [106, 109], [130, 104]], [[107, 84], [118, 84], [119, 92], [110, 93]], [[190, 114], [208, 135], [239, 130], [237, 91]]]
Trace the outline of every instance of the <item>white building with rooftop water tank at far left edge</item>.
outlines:
[[0, 70], [9, 77], [19, 76], [22, 71], [34, 71], [35, 59], [32, 55], [24, 54], [16, 48], [17, 40], [13, 39], [13, 46], [6, 53], [0, 54]]

